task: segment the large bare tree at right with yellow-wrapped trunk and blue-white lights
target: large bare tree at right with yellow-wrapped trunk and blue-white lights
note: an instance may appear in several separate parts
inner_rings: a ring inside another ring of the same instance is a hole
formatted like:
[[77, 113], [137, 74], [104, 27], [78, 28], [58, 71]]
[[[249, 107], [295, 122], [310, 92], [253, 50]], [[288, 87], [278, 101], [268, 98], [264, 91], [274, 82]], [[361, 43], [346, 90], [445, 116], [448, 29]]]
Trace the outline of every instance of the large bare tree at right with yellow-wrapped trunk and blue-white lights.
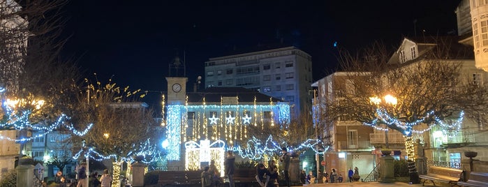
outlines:
[[[468, 81], [461, 71], [469, 60], [454, 57], [454, 49], [446, 47], [448, 40], [436, 44], [405, 63], [388, 63], [390, 53], [379, 43], [355, 56], [342, 53], [341, 65], [348, 75], [335, 80], [339, 86], [324, 110], [328, 123], [348, 114], [364, 125], [402, 133], [413, 183], [418, 182], [413, 133], [424, 133], [438, 120], [459, 117], [461, 111], [477, 114], [487, 104], [485, 87]], [[387, 95], [394, 100], [385, 99]]]

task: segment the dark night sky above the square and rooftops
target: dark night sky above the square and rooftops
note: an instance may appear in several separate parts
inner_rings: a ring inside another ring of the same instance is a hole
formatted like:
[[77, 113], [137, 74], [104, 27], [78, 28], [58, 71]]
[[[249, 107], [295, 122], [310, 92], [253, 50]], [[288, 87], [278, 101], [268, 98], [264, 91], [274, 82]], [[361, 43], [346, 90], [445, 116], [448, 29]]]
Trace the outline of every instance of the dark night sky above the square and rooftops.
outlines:
[[[411, 1], [115, 1], [71, 0], [64, 57], [81, 69], [134, 89], [166, 91], [168, 63], [186, 54], [188, 84], [204, 75], [204, 62], [256, 46], [295, 45], [313, 59], [313, 79], [337, 66], [337, 48], [356, 50], [381, 40], [456, 31], [460, 0]], [[455, 34], [455, 33], [454, 33]], [[156, 100], [156, 101], [155, 101]]]

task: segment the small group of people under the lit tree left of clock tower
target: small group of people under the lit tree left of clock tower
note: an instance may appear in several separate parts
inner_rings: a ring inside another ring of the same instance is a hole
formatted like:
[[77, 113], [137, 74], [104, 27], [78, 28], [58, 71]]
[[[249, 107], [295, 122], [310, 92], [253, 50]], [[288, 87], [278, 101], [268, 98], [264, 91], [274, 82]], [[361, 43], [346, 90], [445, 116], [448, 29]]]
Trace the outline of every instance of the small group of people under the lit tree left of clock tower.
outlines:
[[98, 172], [90, 174], [90, 178], [87, 184], [87, 164], [82, 163], [80, 169], [78, 169], [78, 184], [77, 187], [110, 187], [112, 184], [112, 177], [108, 173], [108, 170], [103, 170], [103, 174], [98, 179]]

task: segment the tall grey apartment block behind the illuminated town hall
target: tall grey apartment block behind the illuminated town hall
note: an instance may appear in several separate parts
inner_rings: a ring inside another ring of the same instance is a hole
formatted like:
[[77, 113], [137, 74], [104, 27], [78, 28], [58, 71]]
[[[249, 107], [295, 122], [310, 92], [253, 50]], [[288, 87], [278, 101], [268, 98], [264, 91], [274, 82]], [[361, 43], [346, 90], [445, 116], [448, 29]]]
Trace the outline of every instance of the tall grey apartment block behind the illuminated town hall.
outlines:
[[244, 87], [281, 98], [292, 118], [311, 107], [311, 56], [297, 47], [215, 57], [205, 62], [205, 87]]

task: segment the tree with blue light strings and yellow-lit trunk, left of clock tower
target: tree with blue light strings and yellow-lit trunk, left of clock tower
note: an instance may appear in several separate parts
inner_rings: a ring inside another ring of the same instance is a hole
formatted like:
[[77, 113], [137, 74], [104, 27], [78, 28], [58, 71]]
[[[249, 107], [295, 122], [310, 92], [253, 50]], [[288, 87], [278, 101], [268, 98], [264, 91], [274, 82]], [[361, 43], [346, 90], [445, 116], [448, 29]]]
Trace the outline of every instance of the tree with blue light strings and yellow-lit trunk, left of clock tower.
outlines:
[[[154, 137], [155, 132], [151, 129], [151, 124], [154, 124], [153, 111], [138, 102], [139, 98], [145, 96], [140, 90], [118, 87], [111, 80], [106, 84], [98, 80], [95, 84], [89, 80], [85, 80], [85, 83], [86, 87], [80, 88], [74, 104], [72, 120], [76, 121], [75, 124], [94, 125], [84, 137], [75, 137], [82, 140], [73, 142], [84, 142], [85, 153], [89, 149], [98, 153], [91, 153], [90, 157], [111, 158], [114, 171], [119, 170], [124, 161], [150, 149], [145, 147], [145, 143]], [[82, 147], [82, 144], [76, 147]], [[118, 177], [118, 173], [114, 172], [114, 183], [119, 182]]]

